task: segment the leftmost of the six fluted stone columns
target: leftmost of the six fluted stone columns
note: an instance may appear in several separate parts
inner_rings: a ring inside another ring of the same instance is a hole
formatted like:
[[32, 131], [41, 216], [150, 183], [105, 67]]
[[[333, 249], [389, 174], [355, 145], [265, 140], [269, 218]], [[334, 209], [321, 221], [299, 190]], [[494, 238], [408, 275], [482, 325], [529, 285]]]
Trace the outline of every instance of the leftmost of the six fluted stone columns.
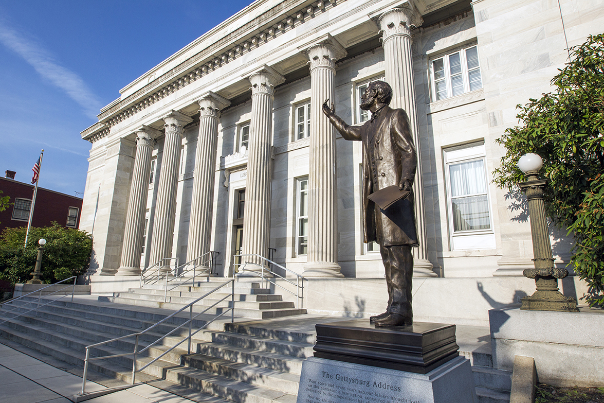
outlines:
[[149, 175], [151, 173], [151, 152], [159, 131], [143, 125], [136, 131], [137, 153], [134, 159], [132, 185], [126, 212], [124, 243], [121, 248], [120, 268], [118, 275], [137, 276], [141, 274], [141, 249], [147, 194], [149, 193]]

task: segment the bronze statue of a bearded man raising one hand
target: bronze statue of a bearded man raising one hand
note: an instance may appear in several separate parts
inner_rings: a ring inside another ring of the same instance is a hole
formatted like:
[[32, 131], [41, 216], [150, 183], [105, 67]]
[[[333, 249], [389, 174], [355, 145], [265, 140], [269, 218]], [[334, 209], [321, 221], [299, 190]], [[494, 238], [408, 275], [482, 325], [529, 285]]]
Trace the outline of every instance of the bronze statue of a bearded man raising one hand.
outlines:
[[[334, 113], [329, 99], [323, 103], [323, 113], [344, 139], [363, 142], [364, 241], [379, 244], [388, 286], [386, 312], [370, 318], [371, 323], [380, 327], [413, 323], [411, 247], [418, 245], [411, 192], [417, 155], [407, 114], [402, 109], [390, 108], [391, 99], [392, 88], [386, 82], [369, 84], [361, 96], [360, 106], [372, 115], [362, 126], [347, 125]], [[400, 191], [408, 191], [408, 195], [390, 207], [381, 209], [368, 198], [393, 185]]]

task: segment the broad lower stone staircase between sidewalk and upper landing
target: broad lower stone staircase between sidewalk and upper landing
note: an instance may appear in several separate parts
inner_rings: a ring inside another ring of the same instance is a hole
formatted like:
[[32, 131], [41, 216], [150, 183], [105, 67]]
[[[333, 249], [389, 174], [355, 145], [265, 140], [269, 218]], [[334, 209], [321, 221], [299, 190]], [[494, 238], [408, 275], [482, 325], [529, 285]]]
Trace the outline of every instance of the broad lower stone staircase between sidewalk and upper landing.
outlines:
[[[61, 300], [43, 307], [37, 317], [35, 313], [29, 313], [11, 323], [0, 325], [0, 335], [62, 361], [83, 365], [86, 345], [139, 332], [169, 313], [168, 310], [153, 306], [132, 306], [97, 301], [92, 296], [77, 296], [72, 303]], [[141, 344], [146, 346], [159, 333], [174, 329], [187, 316], [173, 318], [173, 321], [158, 329], [157, 334], [141, 340]], [[196, 325], [205, 323], [209, 317], [204, 315]], [[163, 378], [184, 385], [187, 390], [199, 390], [207, 396], [208, 401], [213, 399], [212, 402], [294, 403], [302, 362], [313, 353], [315, 324], [348, 319], [350, 318], [299, 315], [243, 322], [238, 319], [233, 324], [230, 320], [223, 320], [211, 324], [210, 329], [196, 335], [193, 354], [187, 355], [186, 346], [182, 345], [182, 348], [178, 347], [150, 365], [144, 373], [138, 373], [137, 380], [153, 381]], [[187, 332], [188, 329], [181, 329], [178, 336], [182, 337]], [[478, 329], [478, 332], [488, 330]], [[141, 367], [152, 357], [173, 346], [177, 339], [178, 337], [164, 339], [163, 344], [139, 356], [137, 366]], [[471, 360], [478, 401], [509, 402], [511, 373], [493, 370], [490, 346], [485, 342], [478, 347], [466, 346], [459, 336], [458, 344], [461, 355]], [[132, 350], [133, 341], [126, 340], [102, 347], [94, 355]], [[91, 369], [128, 382], [132, 358], [94, 361]], [[204, 399], [198, 401], [205, 401]]]

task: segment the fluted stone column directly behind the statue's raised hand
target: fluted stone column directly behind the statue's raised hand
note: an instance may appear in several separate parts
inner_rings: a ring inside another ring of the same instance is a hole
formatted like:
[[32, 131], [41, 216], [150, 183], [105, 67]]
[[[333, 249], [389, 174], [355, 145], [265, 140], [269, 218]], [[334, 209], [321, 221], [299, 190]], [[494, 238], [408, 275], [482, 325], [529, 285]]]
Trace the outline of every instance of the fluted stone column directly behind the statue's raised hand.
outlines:
[[338, 264], [335, 128], [321, 105], [335, 99], [335, 61], [346, 51], [327, 34], [304, 53], [310, 65], [308, 254], [305, 277], [344, 277]]

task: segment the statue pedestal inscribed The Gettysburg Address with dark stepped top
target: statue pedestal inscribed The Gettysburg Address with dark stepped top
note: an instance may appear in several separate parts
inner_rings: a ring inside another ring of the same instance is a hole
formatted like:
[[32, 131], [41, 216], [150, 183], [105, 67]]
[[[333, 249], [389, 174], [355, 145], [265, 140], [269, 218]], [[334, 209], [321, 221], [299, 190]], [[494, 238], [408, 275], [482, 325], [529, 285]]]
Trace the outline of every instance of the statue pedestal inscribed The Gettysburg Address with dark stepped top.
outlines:
[[455, 325], [376, 328], [367, 319], [316, 325], [297, 403], [477, 402]]

